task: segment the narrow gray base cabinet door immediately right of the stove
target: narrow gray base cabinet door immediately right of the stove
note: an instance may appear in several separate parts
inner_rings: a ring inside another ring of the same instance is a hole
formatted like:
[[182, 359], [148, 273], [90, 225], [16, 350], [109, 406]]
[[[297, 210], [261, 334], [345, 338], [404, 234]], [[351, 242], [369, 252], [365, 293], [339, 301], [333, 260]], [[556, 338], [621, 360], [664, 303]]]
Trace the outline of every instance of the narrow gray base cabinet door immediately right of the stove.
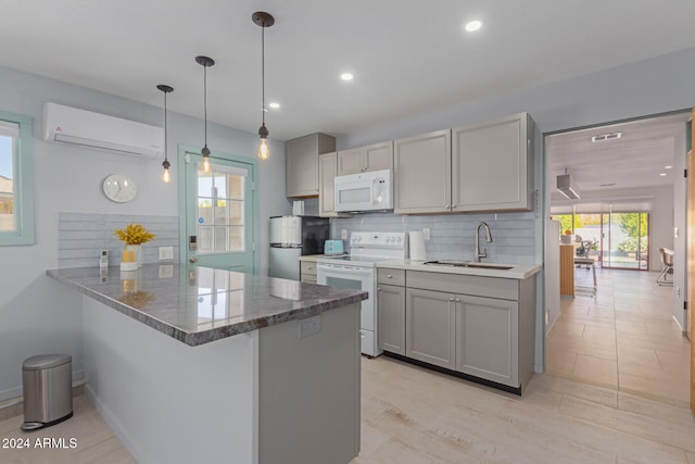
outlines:
[[378, 334], [381, 350], [405, 355], [405, 287], [377, 287]]

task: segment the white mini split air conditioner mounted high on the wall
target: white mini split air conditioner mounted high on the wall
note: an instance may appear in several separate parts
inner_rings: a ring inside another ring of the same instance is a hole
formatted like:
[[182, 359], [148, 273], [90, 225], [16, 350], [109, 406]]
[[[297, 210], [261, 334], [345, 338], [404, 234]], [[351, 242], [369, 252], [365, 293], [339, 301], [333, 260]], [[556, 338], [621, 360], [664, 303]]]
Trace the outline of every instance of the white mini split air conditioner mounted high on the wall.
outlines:
[[159, 156], [164, 129], [56, 103], [43, 104], [43, 140]]

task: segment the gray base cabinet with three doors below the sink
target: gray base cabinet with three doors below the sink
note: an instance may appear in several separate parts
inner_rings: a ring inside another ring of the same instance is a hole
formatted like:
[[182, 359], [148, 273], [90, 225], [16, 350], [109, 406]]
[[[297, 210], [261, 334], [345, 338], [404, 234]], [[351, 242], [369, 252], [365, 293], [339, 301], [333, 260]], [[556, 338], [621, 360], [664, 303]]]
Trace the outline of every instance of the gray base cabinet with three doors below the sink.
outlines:
[[534, 276], [517, 280], [379, 268], [379, 288], [382, 350], [519, 392], [533, 375]]

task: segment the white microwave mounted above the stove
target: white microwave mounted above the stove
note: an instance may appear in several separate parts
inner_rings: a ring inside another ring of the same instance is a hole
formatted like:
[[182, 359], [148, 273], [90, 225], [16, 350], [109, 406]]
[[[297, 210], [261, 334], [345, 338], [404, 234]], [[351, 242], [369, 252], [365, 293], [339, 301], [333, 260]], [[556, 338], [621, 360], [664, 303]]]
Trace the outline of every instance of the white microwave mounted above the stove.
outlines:
[[393, 209], [393, 172], [391, 170], [337, 176], [333, 189], [337, 212]]

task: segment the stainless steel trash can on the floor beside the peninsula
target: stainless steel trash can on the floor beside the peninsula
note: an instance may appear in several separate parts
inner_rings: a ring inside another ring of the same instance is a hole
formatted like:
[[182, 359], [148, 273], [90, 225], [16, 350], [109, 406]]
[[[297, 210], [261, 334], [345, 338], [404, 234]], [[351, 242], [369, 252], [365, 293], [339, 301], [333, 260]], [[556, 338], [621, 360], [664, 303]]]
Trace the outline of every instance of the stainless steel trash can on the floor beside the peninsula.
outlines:
[[73, 416], [73, 359], [41, 354], [22, 364], [23, 430], [49, 427]]

